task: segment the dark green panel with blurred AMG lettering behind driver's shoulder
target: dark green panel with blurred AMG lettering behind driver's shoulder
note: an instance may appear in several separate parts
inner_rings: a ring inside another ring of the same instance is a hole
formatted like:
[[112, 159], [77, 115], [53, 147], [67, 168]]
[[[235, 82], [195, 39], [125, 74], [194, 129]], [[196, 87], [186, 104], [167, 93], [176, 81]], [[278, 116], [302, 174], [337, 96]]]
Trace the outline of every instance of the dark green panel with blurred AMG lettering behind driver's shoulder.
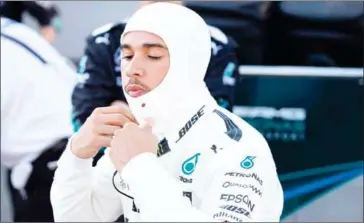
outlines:
[[363, 160], [362, 103], [359, 78], [249, 75], [237, 90], [237, 106], [253, 106], [243, 118], [268, 140], [280, 174]]

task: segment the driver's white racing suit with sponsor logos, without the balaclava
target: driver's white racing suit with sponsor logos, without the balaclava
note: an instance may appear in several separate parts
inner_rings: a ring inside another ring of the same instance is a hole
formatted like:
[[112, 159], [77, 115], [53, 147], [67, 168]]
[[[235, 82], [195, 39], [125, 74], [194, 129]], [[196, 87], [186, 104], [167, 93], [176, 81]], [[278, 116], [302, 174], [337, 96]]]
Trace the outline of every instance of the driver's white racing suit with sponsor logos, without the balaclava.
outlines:
[[283, 192], [264, 138], [216, 104], [201, 105], [189, 123], [159, 158], [139, 155], [114, 178], [108, 155], [93, 168], [67, 148], [52, 188], [55, 220], [279, 221]]

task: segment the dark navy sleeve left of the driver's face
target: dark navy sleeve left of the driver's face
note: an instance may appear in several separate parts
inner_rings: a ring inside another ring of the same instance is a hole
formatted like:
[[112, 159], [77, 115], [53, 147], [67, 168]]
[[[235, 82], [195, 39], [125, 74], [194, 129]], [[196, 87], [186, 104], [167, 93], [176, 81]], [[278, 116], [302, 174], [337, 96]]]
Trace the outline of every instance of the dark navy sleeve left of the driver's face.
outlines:
[[72, 121], [77, 131], [97, 107], [121, 100], [121, 90], [114, 77], [114, 61], [109, 46], [89, 37], [78, 66], [78, 84], [72, 93]]

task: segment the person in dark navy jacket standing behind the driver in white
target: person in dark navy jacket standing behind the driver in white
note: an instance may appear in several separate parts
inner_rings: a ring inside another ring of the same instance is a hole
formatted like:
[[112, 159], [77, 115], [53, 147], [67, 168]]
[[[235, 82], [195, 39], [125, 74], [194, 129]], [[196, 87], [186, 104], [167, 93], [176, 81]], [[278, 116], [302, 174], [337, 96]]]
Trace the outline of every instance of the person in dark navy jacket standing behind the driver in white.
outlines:
[[[154, 2], [141, 1], [140, 7]], [[181, 1], [173, 3], [183, 4]], [[107, 24], [87, 38], [85, 53], [79, 63], [79, 84], [72, 96], [75, 130], [79, 129], [95, 108], [125, 102], [120, 79], [120, 35], [125, 25], [125, 22]], [[212, 57], [205, 81], [219, 104], [232, 110], [238, 77], [235, 42], [218, 28], [209, 28]], [[180, 35], [183, 37], [184, 33]], [[187, 91], [188, 86], [185, 87]]]

